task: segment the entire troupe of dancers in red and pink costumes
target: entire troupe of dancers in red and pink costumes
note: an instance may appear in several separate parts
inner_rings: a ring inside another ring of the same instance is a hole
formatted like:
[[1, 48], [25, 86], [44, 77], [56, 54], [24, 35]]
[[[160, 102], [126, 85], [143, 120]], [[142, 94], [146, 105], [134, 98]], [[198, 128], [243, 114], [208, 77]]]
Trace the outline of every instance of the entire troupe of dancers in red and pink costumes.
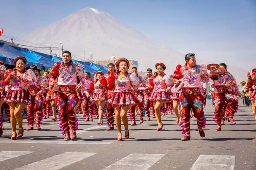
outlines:
[[[14, 59], [15, 68], [7, 69], [0, 62], [0, 107], [5, 104], [5, 113], [10, 118], [12, 136], [15, 140], [22, 137], [21, 112], [27, 108], [27, 130], [40, 130], [43, 118], [49, 118], [53, 112], [53, 121], [59, 118], [59, 127], [64, 140], [76, 139], [78, 130], [77, 113], [83, 112], [85, 121], [93, 121], [93, 115], [98, 118], [98, 125], [103, 124], [103, 116], [107, 118], [108, 129], [118, 131], [117, 140], [122, 141], [121, 120], [124, 125], [124, 139], [130, 137], [130, 125], [136, 125], [138, 114], [140, 123], [156, 118], [158, 128], [163, 129], [162, 116], [174, 110], [176, 123], [181, 126], [184, 137], [182, 141], [190, 140], [190, 118], [195, 117], [201, 137], [205, 137], [206, 117], [204, 106], [206, 84], [214, 89], [214, 118], [217, 123], [215, 131], [221, 131], [225, 120], [236, 124], [234, 114], [238, 109], [238, 85], [234, 76], [227, 71], [225, 63], [198, 65], [194, 53], [185, 56], [185, 65], [177, 65], [173, 74], [165, 74], [164, 63], [156, 63], [156, 72], [146, 70], [146, 76], [138, 75], [136, 67], [128, 73], [130, 63], [126, 58], [119, 58], [115, 63], [108, 64], [108, 74], [96, 71], [91, 78], [89, 72], [84, 72], [79, 63], [73, 63], [71, 53], [63, 51], [62, 62], [54, 64], [52, 70], [40, 76], [35, 65], [26, 69], [27, 60], [23, 56]], [[209, 70], [209, 74], [207, 72]], [[116, 71], [115, 71], [116, 70]], [[247, 90], [256, 111], [256, 69], [252, 75], [248, 73]], [[7, 106], [6, 106], [7, 105]], [[9, 106], [8, 106], [9, 105]], [[58, 114], [56, 114], [56, 106]], [[178, 112], [180, 110], [180, 114]], [[256, 117], [255, 117], [256, 120]], [[18, 134], [16, 132], [18, 123]], [[114, 126], [115, 123], [115, 126]], [[0, 135], [2, 135], [2, 114], [0, 114]]]

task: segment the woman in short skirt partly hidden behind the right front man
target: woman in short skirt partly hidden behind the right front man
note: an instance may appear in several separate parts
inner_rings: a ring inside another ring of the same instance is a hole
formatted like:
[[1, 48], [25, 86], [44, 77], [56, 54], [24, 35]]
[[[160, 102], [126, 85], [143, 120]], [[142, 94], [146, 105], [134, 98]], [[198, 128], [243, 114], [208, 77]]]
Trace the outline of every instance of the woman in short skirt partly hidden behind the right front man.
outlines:
[[[177, 86], [180, 84], [180, 79], [182, 78], [182, 74], [181, 74], [181, 65], [178, 64], [176, 66], [176, 70], [174, 71], [173, 74], [173, 79], [172, 82], [174, 83], [174, 86], [172, 87], [172, 89], [174, 90], [175, 88], [177, 88]], [[171, 95], [171, 99], [173, 102], [173, 107], [174, 107], [174, 112], [176, 114], [176, 123], [179, 123], [181, 121], [181, 109], [180, 109], [180, 94], [181, 94], [181, 89], [179, 91], [175, 91], [172, 93]], [[178, 114], [178, 108], [180, 109], [180, 115]]]

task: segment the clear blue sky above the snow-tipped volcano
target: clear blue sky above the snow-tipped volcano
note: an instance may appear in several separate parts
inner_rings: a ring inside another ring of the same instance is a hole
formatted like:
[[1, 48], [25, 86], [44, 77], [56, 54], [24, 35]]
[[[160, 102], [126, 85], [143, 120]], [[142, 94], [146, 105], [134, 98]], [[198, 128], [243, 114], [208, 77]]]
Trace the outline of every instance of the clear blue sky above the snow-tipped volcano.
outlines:
[[1, 0], [0, 25], [4, 35], [23, 38], [84, 7], [106, 11], [181, 53], [255, 67], [256, 0]]

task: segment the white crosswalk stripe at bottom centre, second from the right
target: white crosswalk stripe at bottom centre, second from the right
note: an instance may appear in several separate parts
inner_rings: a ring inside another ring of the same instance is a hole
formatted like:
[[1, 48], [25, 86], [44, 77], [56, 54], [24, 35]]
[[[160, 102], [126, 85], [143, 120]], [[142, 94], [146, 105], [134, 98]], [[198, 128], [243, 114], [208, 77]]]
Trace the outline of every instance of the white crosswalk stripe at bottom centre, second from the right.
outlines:
[[104, 170], [147, 170], [165, 154], [130, 154]]

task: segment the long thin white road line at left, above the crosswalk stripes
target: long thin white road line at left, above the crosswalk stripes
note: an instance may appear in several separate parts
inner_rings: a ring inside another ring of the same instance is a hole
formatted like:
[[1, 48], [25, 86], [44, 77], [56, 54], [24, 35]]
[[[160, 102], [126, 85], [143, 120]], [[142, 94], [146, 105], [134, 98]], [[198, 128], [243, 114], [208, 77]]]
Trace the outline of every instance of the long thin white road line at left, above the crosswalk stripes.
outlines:
[[39, 144], [82, 144], [82, 145], [109, 145], [112, 142], [105, 141], [51, 141], [51, 140], [16, 140], [16, 141], [1, 141], [0, 143], [39, 143]]

